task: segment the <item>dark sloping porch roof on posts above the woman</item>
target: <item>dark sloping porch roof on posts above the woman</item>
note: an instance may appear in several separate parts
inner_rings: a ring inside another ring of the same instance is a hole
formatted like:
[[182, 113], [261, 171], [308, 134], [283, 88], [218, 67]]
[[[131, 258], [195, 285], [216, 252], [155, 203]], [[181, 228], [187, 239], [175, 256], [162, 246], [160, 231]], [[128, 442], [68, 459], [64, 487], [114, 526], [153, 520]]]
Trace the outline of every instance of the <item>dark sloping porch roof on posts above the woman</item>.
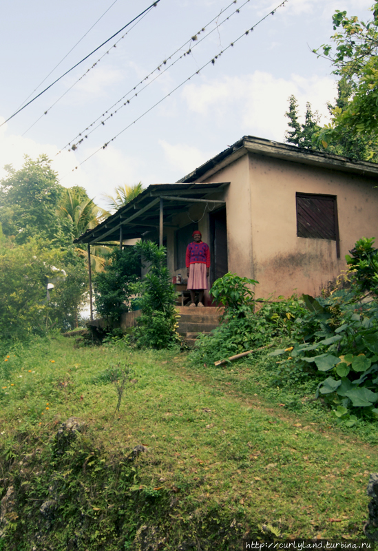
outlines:
[[[159, 230], [160, 198], [163, 202], [162, 222], [165, 227], [174, 227], [172, 217], [185, 212], [193, 202], [215, 202], [209, 195], [221, 191], [225, 183], [176, 183], [152, 184], [134, 200], [106, 218], [94, 229], [85, 231], [74, 243], [100, 245], [109, 241], [135, 239], [152, 229]], [[217, 200], [222, 205], [222, 200]], [[178, 228], [177, 228], [178, 229]]]

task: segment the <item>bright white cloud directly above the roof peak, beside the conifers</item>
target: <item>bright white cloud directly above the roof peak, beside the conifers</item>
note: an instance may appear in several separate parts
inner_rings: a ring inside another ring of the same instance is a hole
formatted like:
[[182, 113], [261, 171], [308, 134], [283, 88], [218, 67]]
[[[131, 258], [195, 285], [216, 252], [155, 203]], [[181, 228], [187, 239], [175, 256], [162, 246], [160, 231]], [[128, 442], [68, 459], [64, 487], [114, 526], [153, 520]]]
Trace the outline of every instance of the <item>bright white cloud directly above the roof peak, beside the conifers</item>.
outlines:
[[223, 77], [217, 81], [203, 81], [187, 85], [182, 96], [189, 109], [202, 117], [211, 117], [219, 127], [233, 123], [244, 134], [254, 134], [282, 141], [287, 129], [288, 97], [294, 94], [304, 114], [306, 102], [313, 111], [328, 114], [327, 101], [335, 97], [335, 81], [328, 77], [313, 76], [305, 79], [296, 74], [291, 79], [277, 79], [270, 73], [255, 71], [253, 74]]

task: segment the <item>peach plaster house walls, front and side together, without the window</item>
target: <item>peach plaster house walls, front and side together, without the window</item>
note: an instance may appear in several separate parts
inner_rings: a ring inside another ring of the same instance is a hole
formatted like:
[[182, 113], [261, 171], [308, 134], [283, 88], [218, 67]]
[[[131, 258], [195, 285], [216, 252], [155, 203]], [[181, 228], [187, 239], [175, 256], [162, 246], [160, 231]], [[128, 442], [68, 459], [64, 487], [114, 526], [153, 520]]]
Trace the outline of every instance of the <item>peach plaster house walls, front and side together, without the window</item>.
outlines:
[[[229, 271], [258, 280], [257, 296], [318, 295], [346, 269], [345, 255], [357, 239], [378, 237], [377, 178], [371, 175], [245, 150], [223, 164], [195, 181], [230, 182], [222, 192]], [[296, 193], [337, 197], [339, 258], [335, 240], [297, 237]], [[196, 205], [189, 211], [196, 220], [203, 207]], [[189, 218], [180, 215], [175, 222], [182, 227]], [[199, 229], [202, 239], [209, 242], [208, 215], [199, 222]], [[167, 233], [167, 245], [171, 273], [182, 273], [185, 267], [174, 270], [174, 231]]]

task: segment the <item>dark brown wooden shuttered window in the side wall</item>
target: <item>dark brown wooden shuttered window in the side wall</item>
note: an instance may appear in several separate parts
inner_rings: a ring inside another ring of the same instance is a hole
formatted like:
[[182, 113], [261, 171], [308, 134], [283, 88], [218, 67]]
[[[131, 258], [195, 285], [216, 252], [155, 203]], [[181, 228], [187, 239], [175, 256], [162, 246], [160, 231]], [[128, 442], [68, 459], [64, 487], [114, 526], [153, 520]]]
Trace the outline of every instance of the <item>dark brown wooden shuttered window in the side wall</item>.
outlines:
[[297, 237], [329, 239], [336, 242], [340, 258], [337, 196], [325, 194], [295, 194]]

